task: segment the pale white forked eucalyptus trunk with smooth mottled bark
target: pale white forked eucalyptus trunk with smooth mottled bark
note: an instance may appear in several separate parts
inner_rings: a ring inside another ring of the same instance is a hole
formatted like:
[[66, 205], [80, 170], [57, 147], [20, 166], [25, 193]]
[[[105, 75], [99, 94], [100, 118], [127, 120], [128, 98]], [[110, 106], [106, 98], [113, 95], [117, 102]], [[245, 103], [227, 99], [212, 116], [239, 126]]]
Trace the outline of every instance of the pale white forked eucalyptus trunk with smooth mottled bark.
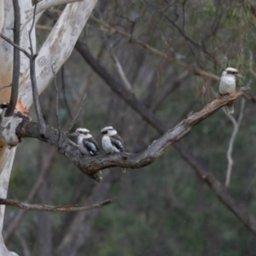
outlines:
[[[77, 3], [73, 3], [79, 1]], [[86, 21], [88, 20], [92, 9], [94, 9], [97, 0], [44, 0], [40, 3], [38, 15], [42, 15], [45, 8], [50, 8], [62, 3], [68, 3], [63, 10], [58, 22], [49, 33], [41, 49], [39, 49], [36, 59], [36, 78], [38, 82], [38, 92], [41, 94], [53, 79], [51, 67], [57, 72], [61, 65], [67, 61], [67, 58], [73, 51], [74, 44], [79, 38], [79, 34]], [[30, 52], [28, 31], [32, 24], [32, 0], [19, 0], [20, 3], [20, 47]], [[0, 32], [4, 36], [13, 39], [14, 11], [11, 0], [0, 0]], [[35, 31], [32, 32], [32, 44], [36, 52]], [[4, 88], [11, 84], [13, 72], [13, 47], [0, 38], [0, 103], [9, 102], [10, 88]], [[19, 99], [25, 108], [32, 106], [32, 86], [29, 73], [29, 60], [26, 55], [20, 53], [20, 85]], [[9, 148], [9, 145], [16, 145], [18, 138], [15, 136], [15, 127], [20, 119], [3, 118], [3, 112], [0, 119], [0, 197], [6, 198], [9, 177], [15, 158], [16, 147]], [[9, 125], [11, 129], [6, 129]], [[20, 145], [22, 147], [22, 145]], [[3, 230], [4, 208], [0, 207], [0, 231]], [[10, 253], [4, 245], [3, 237], [0, 235], [0, 255], [17, 255]]]

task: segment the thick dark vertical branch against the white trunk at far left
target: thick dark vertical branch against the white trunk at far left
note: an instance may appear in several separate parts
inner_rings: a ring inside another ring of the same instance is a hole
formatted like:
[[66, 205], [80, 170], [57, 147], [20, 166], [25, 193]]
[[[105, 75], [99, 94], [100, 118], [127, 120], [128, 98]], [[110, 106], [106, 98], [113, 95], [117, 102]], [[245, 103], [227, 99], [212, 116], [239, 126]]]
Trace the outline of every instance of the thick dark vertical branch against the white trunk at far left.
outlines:
[[[15, 11], [15, 26], [14, 26], [14, 43], [20, 45], [20, 5], [18, 0], [13, 0], [13, 6]], [[15, 112], [15, 107], [19, 94], [19, 78], [20, 78], [20, 50], [14, 49], [14, 67], [13, 67], [13, 79], [11, 84], [11, 95], [9, 105], [4, 114], [5, 117], [12, 116]]]

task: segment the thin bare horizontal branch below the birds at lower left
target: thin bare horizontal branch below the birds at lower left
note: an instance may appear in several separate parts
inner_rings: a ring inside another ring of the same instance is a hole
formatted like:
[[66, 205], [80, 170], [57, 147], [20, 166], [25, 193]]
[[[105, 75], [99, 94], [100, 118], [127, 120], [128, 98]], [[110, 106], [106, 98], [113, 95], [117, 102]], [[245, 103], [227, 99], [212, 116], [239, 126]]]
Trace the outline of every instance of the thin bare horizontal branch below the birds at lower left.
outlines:
[[26, 204], [20, 201], [15, 201], [11, 199], [3, 199], [0, 198], [0, 205], [5, 205], [9, 207], [17, 207], [22, 210], [36, 210], [36, 211], [44, 211], [44, 212], [81, 212], [81, 211], [88, 211], [91, 209], [104, 207], [113, 202], [113, 199], [108, 199], [102, 201], [100, 203], [91, 205], [90, 207], [78, 207], [78, 206], [63, 206], [63, 207], [54, 207], [48, 205], [37, 205], [37, 204]]

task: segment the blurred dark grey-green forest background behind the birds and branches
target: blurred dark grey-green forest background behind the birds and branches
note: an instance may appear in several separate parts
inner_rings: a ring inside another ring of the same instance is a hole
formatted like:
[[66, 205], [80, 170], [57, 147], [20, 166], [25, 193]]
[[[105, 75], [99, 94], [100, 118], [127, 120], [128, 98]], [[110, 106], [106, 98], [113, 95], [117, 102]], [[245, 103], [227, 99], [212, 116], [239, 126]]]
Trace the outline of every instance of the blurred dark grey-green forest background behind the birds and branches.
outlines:
[[[38, 21], [38, 49], [61, 9], [49, 9]], [[155, 55], [136, 40], [174, 61]], [[201, 76], [197, 69], [220, 76], [226, 67], [238, 68], [244, 76], [239, 85], [250, 84], [251, 90], [243, 109], [241, 98], [235, 103], [235, 119], [241, 111], [243, 118], [233, 147], [230, 192], [256, 214], [253, 1], [98, 1], [79, 41], [170, 129], [210, 102], [215, 97], [212, 89], [218, 92], [218, 79]], [[73, 50], [56, 79], [64, 130], [86, 93], [73, 130], [86, 127], [101, 144], [100, 130], [113, 125], [124, 139], [125, 151], [132, 153], [141, 152], [160, 137], [91, 69], [78, 50]], [[55, 94], [52, 83], [40, 102], [47, 124], [57, 127]], [[32, 117], [36, 119], [34, 113]], [[180, 143], [224, 183], [233, 130], [232, 121], [220, 109]], [[255, 255], [255, 235], [174, 148], [141, 169], [126, 173], [120, 168], [104, 170], [102, 182], [96, 183], [55, 148], [35, 139], [22, 143], [15, 157], [9, 198], [48, 205], [114, 201], [88, 212], [22, 212], [7, 207], [3, 236], [9, 249], [20, 255]], [[12, 230], [10, 224], [15, 224]]]

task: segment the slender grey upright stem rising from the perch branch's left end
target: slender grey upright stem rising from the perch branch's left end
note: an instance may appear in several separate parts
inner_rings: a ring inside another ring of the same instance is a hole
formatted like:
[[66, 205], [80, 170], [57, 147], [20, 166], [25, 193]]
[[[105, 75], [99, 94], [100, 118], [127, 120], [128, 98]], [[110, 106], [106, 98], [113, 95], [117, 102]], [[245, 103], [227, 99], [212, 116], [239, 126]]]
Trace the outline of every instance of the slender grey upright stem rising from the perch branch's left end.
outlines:
[[31, 55], [30, 55], [30, 58], [29, 58], [29, 61], [30, 61], [30, 77], [31, 77], [31, 84], [32, 84], [33, 102], [35, 104], [35, 109], [36, 109], [36, 113], [37, 113], [37, 117], [38, 117], [39, 131], [40, 131], [41, 136], [44, 136], [45, 122], [44, 122], [44, 117], [43, 117], [43, 113], [42, 113], [39, 98], [38, 98], [38, 84], [37, 84], [37, 79], [36, 79], [35, 60], [36, 60], [37, 55], [33, 54], [33, 46], [32, 46], [32, 30], [33, 30], [33, 26], [34, 26], [34, 22], [35, 22], [36, 9], [37, 9], [37, 2], [35, 4], [35, 8], [34, 8], [32, 26], [31, 26], [30, 31], [28, 32], [28, 37], [29, 37], [29, 42], [30, 42], [30, 50], [31, 50]]

